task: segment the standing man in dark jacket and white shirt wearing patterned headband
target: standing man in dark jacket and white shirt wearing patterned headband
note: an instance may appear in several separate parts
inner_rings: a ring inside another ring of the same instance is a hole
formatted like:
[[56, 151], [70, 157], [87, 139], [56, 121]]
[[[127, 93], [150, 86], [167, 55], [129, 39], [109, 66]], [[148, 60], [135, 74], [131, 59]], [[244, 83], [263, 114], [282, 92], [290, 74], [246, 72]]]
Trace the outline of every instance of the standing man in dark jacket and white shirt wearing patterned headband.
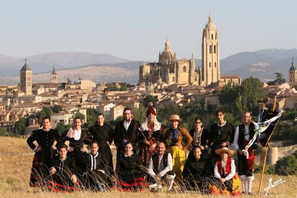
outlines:
[[116, 124], [113, 133], [114, 143], [117, 147], [117, 157], [123, 154], [123, 149], [127, 142], [133, 143], [133, 152], [136, 153], [139, 126], [139, 122], [134, 120], [132, 109], [126, 107], [123, 111], [123, 120]]

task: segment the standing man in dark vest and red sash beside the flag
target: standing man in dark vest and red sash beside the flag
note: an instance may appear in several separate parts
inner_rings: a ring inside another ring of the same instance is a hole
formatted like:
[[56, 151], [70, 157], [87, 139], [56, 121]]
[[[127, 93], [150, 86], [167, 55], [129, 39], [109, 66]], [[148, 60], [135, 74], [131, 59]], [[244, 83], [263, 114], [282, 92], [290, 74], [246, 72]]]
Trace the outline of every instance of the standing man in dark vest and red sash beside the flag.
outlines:
[[236, 127], [234, 134], [234, 148], [237, 151], [238, 158], [238, 175], [242, 182], [243, 194], [246, 194], [246, 181], [248, 182], [248, 194], [252, 194], [252, 183], [254, 180], [253, 166], [255, 162], [255, 155], [253, 150], [257, 149], [258, 138], [254, 144], [248, 149], [248, 158], [244, 154], [243, 150], [253, 139], [255, 135], [255, 125], [252, 121], [252, 115], [250, 112], [243, 114], [243, 122]]

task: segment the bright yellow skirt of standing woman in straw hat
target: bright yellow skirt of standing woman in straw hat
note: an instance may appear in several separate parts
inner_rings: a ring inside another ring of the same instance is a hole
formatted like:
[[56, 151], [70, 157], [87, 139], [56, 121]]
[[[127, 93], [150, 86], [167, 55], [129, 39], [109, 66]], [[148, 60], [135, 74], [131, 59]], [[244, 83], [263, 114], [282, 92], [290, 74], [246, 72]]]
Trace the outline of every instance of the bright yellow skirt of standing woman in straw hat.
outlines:
[[173, 171], [176, 174], [176, 177], [182, 179], [182, 170], [186, 163], [186, 155], [183, 149], [178, 148], [177, 146], [172, 146], [169, 150], [172, 156], [172, 166]]

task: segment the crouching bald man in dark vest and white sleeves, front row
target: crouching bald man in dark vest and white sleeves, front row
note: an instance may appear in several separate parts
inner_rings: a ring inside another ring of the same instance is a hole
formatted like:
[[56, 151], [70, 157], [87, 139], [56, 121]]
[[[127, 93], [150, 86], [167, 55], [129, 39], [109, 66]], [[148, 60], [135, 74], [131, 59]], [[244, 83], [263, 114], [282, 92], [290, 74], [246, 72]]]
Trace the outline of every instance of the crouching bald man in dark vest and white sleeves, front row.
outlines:
[[174, 182], [175, 174], [172, 170], [172, 157], [170, 153], [165, 152], [166, 146], [160, 142], [157, 146], [157, 154], [150, 158], [148, 165], [148, 173], [151, 176], [150, 185], [151, 190], [158, 190], [162, 188], [162, 180], [169, 184], [168, 191], [171, 191]]

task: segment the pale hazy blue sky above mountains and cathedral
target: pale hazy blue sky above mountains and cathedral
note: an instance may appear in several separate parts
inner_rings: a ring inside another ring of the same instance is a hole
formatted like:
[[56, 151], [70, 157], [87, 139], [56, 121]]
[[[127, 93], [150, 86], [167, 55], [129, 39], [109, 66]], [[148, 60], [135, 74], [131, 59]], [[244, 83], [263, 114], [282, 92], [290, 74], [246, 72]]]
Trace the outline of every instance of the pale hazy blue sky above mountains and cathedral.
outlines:
[[154, 61], [168, 37], [177, 58], [201, 58], [210, 12], [221, 58], [297, 48], [293, 0], [1, 0], [0, 54], [71, 50]]

